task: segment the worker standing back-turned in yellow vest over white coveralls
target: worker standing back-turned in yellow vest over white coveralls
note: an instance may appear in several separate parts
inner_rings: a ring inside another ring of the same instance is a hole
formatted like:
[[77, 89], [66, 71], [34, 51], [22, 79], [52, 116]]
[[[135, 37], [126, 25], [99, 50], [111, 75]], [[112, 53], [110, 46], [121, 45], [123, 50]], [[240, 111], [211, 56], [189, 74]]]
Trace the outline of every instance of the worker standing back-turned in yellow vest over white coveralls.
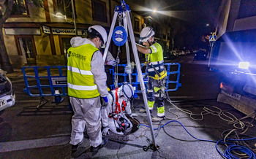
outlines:
[[[104, 61], [99, 48], [107, 42], [108, 35], [102, 26], [89, 27], [87, 38], [74, 37], [70, 43], [67, 62], [67, 86], [72, 116], [72, 156], [83, 142], [86, 127], [91, 152], [108, 143], [102, 138], [101, 109], [108, 104], [108, 88]], [[102, 101], [102, 104], [101, 104]]]

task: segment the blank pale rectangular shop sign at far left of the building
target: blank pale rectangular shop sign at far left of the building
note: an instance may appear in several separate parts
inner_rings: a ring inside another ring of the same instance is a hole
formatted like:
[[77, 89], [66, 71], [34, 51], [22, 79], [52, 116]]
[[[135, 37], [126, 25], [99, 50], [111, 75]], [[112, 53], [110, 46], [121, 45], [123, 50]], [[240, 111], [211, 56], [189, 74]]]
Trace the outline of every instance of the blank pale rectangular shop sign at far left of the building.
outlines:
[[4, 28], [6, 35], [41, 35], [40, 28]]

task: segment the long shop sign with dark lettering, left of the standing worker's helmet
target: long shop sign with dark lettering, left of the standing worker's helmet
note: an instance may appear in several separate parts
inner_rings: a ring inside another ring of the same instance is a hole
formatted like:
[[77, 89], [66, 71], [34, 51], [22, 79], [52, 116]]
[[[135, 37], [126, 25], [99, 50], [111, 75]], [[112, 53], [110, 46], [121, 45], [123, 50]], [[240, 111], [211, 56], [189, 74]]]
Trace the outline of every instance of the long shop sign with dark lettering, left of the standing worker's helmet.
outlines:
[[[75, 35], [75, 29], [73, 28], [52, 28], [53, 35]], [[78, 35], [87, 36], [86, 29], [78, 29]]]

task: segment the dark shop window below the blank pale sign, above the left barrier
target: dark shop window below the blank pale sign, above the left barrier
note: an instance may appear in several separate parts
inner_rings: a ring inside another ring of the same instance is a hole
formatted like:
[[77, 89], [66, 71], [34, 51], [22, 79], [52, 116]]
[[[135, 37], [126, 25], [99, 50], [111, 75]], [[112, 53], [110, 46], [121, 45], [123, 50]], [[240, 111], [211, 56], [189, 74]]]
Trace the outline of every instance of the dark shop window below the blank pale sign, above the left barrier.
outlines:
[[36, 64], [36, 49], [33, 36], [15, 36], [18, 45], [18, 55], [23, 55], [28, 64]]

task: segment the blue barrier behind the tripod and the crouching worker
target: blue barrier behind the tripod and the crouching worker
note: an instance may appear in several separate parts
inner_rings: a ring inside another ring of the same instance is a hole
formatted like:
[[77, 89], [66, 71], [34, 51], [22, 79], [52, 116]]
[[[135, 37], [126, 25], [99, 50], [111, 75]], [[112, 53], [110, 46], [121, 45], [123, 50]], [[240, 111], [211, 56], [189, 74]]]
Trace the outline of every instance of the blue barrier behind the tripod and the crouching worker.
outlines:
[[[124, 72], [121, 73], [117, 73], [117, 76], [121, 76], [124, 79], [121, 81], [118, 81], [118, 87], [122, 85], [123, 82], [128, 82], [127, 81], [127, 77], [129, 76], [129, 74], [125, 73], [125, 66], [127, 66], [126, 64], [118, 64], [118, 67], [121, 67], [122, 70], [124, 70]], [[179, 87], [181, 87], [181, 83], [179, 82], [179, 78], [180, 78], [180, 68], [181, 68], [181, 64], [180, 63], [164, 63], [164, 66], [166, 68], [167, 71], [167, 80], [166, 80], [166, 85], [165, 87], [167, 88], [165, 91], [176, 91], [178, 90]], [[176, 66], [177, 69], [175, 71], [170, 71], [171, 70], [171, 66]], [[110, 69], [110, 74], [113, 75], [113, 83], [115, 82], [115, 71], [114, 69]], [[170, 75], [176, 75], [176, 80], [170, 80]], [[138, 90], [138, 85], [140, 85], [140, 82], [138, 82], [138, 71], [135, 68], [132, 72], [132, 86], [135, 87], [135, 93], [141, 93], [141, 90]], [[144, 83], [147, 83], [147, 80], [144, 79]], [[170, 84], [175, 84], [176, 87], [175, 88], [168, 88]], [[115, 88], [115, 85], [110, 85], [111, 90], [113, 90]]]

